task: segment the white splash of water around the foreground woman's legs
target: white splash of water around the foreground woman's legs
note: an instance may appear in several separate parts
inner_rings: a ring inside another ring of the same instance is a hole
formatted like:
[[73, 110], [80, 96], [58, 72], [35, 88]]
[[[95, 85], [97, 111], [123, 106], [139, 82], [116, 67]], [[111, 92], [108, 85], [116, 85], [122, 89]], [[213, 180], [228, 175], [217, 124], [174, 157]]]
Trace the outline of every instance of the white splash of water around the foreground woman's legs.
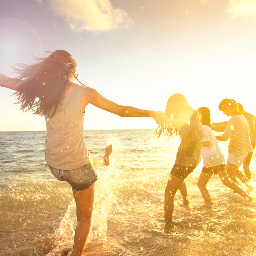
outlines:
[[[108, 145], [119, 145], [116, 136], [108, 137]], [[113, 152], [110, 158], [109, 166], [102, 166], [99, 180], [95, 183], [94, 206], [91, 219], [91, 229], [87, 244], [93, 241], [103, 242], [106, 239], [106, 230], [108, 223], [108, 214], [115, 198], [113, 187], [119, 176], [119, 170], [115, 167], [115, 157], [118, 152]], [[97, 173], [97, 168], [96, 168]], [[66, 255], [73, 247], [74, 233], [76, 229], [76, 203], [74, 199], [70, 202], [65, 216], [60, 222], [59, 228], [52, 235], [54, 239], [54, 249], [47, 256]]]

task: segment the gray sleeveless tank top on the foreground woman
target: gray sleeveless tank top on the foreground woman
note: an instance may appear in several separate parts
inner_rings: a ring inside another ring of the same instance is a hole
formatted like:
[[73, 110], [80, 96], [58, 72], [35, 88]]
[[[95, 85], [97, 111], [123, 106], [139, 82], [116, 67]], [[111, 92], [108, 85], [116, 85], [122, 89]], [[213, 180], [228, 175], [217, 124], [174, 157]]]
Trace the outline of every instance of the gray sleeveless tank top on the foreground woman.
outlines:
[[55, 115], [45, 115], [45, 160], [48, 165], [62, 170], [72, 170], [89, 162], [89, 152], [83, 137], [81, 103], [86, 86], [79, 85], [62, 96], [63, 103]]

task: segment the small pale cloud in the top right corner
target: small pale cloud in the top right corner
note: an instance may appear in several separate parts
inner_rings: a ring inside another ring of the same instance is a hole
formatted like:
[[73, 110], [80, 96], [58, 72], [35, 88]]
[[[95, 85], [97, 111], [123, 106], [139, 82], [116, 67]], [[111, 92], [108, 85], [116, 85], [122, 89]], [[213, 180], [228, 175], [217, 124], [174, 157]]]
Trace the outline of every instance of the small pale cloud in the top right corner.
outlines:
[[256, 1], [230, 0], [227, 12], [231, 14], [232, 18], [247, 16], [256, 20]]

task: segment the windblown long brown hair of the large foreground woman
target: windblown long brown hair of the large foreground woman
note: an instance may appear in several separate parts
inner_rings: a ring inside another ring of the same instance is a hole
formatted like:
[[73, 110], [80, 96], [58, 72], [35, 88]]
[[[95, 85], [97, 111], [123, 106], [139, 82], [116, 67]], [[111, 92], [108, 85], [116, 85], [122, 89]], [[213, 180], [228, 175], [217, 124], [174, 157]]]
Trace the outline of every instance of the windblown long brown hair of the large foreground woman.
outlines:
[[61, 97], [69, 87], [69, 79], [76, 74], [77, 63], [73, 56], [64, 50], [49, 52], [45, 58], [34, 57], [30, 65], [17, 63], [13, 70], [21, 84], [13, 93], [20, 110], [49, 117], [55, 115]]

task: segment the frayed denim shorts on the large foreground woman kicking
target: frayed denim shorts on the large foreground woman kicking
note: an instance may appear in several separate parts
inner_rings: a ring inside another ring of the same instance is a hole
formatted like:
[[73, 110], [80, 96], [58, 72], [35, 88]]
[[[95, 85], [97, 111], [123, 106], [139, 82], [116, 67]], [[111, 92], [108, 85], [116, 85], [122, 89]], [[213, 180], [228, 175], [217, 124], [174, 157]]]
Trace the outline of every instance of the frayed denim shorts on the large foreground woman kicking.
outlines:
[[58, 180], [68, 182], [77, 191], [89, 188], [98, 179], [91, 158], [86, 165], [73, 170], [61, 170], [48, 166]]

